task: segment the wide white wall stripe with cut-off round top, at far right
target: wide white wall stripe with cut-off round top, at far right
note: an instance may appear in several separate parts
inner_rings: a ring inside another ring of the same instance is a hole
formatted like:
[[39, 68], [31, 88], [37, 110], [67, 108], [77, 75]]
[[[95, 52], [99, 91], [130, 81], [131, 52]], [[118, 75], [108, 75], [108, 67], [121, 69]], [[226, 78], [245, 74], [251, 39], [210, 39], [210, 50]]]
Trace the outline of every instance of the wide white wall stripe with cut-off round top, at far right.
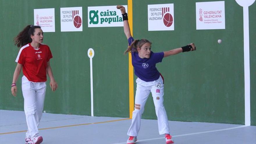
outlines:
[[243, 58], [244, 58], [244, 123], [251, 125], [250, 107], [250, 45], [249, 45], [249, 6], [255, 0], [236, 0], [243, 7]]

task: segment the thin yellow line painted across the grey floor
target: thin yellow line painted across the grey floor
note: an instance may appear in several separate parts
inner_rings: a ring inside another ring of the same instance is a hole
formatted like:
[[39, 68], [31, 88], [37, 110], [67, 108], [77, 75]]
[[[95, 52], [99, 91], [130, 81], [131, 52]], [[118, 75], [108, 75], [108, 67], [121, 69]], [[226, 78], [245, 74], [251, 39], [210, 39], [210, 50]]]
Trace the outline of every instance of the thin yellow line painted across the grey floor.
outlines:
[[[116, 122], [116, 121], [129, 120], [129, 119], [130, 118], [124, 118], [124, 119], [120, 119], [120, 120], [109, 120], [109, 121], [104, 121], [104, 122], [92, 122], [92, 123], [78, 124], [78, 125], [65, 125], [65, 126], [59, 126], [59, 127], [48, 127], [48, 128], [38, 129], [38, 130], [57, 129], [57, 128], [62, 128], [62, 127], [74, 127], [74, 126], [79, 126], [79, 125], [101, 124], [101, 123]], [[14, 134], [14, 133], [19, 133], [19, 132], [26, 132], [26, 131], [13, 131], [13, 132], [6, 132], [6, 133], [0, 133], [0, 134]]]

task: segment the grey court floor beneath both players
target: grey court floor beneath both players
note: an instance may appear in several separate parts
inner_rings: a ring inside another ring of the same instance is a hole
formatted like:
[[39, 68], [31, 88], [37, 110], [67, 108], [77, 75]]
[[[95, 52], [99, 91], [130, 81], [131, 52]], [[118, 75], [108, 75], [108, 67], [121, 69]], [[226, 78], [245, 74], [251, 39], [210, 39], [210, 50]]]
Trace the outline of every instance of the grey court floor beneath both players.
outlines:
[[[130, 124], [125, 118], [43, 113], [39, 134], [42, 144], [126, 144]], [[255, 126], [177, 121], [169, 125], [175, 144], [256, 144]], [[24, 111], [0, 110], [1, 144], [24, 144], [26, 129]], [[136, 144], [165, 144], [157, 120], [142, 119]]]

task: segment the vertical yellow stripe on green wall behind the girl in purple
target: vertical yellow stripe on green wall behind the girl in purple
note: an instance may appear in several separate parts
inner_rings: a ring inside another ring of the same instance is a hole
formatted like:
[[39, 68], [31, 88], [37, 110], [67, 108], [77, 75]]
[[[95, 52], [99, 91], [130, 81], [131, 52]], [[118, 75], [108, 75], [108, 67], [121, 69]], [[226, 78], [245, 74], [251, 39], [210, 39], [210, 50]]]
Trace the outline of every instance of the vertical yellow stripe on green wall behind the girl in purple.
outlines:
[[[128, 22], [130, 26], [131, 35], [132, 33], [132, 0], [128, 0]], [[133, 66], [131, 64], [131, 53], [129, 53], [129, 112], [130, 118], [132, 118], [132, 112], [134, 110], [134, 76], [133, 76]]]

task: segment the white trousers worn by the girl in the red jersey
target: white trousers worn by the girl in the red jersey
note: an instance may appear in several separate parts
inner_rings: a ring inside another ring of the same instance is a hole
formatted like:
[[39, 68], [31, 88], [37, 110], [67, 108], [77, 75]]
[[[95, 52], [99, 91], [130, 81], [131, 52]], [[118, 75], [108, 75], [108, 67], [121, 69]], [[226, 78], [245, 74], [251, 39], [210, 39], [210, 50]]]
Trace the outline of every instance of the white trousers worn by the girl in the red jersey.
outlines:
[[24, 97], [24, 111], [28, 131], [26, 138], [38, 136], [38, 126], [42, 118], [42, 111], [45, 101], [46, 82], [30, 82], [22, 77], [22, 94]]

